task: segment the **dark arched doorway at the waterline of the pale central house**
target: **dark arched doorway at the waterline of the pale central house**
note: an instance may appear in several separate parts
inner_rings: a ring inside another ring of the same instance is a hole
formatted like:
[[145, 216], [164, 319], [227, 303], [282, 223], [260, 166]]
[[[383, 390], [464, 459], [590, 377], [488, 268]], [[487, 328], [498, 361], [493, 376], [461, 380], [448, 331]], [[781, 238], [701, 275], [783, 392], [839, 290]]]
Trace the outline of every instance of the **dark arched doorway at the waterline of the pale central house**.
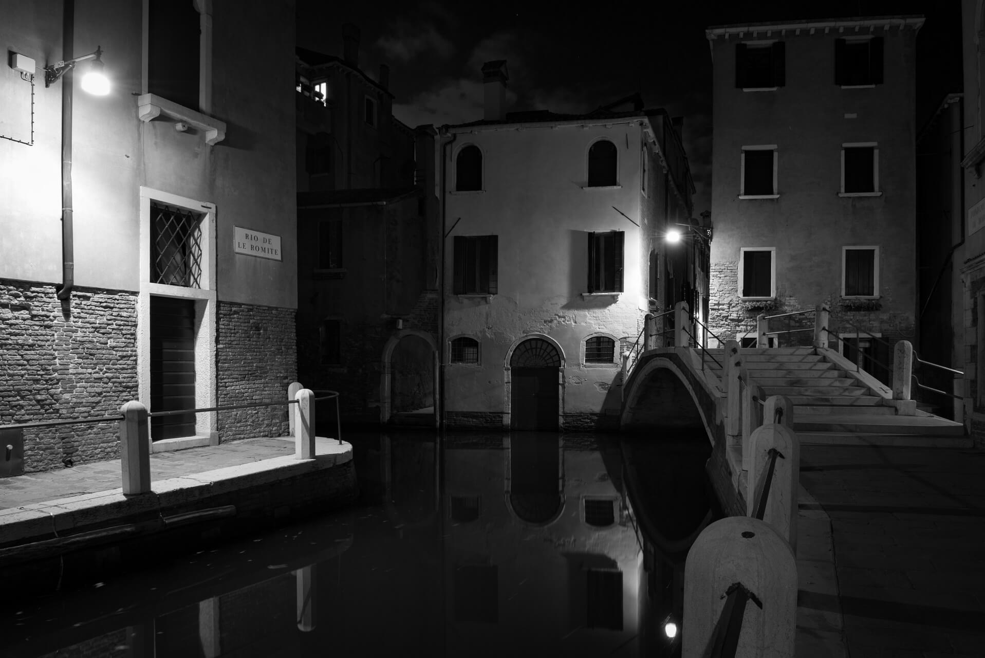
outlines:
[[513, 350], [510, 367], [510, 429], [558, 429], [558, 348], [544, 338], [529, 338]]

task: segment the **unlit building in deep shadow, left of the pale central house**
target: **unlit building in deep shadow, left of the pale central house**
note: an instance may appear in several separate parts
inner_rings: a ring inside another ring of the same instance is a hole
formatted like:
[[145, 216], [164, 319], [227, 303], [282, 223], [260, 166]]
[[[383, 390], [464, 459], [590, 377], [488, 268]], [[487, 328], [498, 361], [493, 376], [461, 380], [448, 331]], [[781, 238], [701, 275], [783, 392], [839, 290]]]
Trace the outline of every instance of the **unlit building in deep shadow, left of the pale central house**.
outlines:
[[343, 36], [342, 57], [297, 49], [299, 380], [339, 391], [348, 423], [433, 427], [434, 131], [393, 116], [388, 68], [368, 76], [359, 29]]

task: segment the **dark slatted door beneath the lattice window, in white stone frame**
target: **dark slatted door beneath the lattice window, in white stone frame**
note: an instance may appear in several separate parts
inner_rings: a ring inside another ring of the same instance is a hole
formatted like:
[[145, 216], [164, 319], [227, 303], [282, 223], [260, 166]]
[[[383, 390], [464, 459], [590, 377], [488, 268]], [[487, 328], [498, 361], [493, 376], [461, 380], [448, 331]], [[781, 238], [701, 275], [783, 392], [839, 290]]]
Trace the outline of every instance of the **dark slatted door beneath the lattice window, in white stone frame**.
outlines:
[[[195, 407], [195, 301], [151, 297], [151, 411]], [[151, 419], [151, 438], [195, 435], [195, 415]]]

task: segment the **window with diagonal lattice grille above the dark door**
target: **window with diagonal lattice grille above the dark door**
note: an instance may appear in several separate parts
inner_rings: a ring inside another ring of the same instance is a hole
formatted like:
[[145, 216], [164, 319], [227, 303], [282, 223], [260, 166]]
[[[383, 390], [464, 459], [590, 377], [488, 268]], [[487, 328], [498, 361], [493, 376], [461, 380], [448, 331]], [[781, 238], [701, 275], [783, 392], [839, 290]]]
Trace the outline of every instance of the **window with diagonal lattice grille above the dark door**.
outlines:
[[202, 218], [151, 202], [151, 283], [202, 287]]

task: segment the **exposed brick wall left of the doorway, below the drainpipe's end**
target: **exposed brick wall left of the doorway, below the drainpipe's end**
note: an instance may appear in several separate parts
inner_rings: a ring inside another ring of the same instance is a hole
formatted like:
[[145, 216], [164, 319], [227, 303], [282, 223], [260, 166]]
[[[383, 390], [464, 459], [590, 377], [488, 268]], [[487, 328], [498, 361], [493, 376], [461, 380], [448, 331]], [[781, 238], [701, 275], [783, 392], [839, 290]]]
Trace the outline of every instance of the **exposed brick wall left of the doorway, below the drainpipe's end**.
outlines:
[[[137, 296], [0, 280], [0, 424], [113, 415], [137, 399]], [[115, 459], [116, 423], [24, 434], [25, 470]], [[69, 461], [71, 460], [71, 462]]]

